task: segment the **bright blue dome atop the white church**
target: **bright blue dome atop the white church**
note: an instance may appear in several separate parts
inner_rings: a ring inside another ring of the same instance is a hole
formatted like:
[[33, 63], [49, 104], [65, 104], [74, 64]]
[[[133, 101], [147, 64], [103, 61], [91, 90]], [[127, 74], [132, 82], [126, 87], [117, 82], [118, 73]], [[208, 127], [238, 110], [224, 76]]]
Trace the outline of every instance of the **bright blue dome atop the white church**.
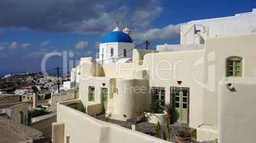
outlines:
[[107, 34], [102, 43], [106, 42], [129, 42], [132, 43], [132, 39], [129, 35], [121, 31], [113, 31]]

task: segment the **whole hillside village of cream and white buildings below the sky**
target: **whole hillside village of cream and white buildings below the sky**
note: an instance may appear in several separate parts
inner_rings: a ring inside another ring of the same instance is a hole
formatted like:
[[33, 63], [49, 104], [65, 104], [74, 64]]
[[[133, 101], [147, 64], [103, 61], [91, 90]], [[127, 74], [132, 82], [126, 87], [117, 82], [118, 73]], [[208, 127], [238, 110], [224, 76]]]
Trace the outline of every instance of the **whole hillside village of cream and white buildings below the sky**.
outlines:
[[255, 23], [256, 9], [194, 20], [153, 51], [116, 22], [70, 75], [2, 77], [0, 129], [10, 142], [178, 142], [183, 127], [191, 142], [253, 142]]

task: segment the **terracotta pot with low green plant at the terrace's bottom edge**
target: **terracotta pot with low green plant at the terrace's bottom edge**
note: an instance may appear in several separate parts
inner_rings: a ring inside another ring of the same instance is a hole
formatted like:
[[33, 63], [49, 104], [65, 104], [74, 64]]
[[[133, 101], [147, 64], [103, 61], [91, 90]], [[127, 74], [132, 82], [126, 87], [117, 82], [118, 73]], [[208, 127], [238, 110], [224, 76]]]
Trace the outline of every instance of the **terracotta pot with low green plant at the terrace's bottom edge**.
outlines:
[[191, 135], [189, 132], [189, 128], [188, 127], [184, 127], [184, 128], [180, 128], [177, 132], [177, 134], [175, 134], [175, 139], [178, 142], [189, 142], [191, 140]]

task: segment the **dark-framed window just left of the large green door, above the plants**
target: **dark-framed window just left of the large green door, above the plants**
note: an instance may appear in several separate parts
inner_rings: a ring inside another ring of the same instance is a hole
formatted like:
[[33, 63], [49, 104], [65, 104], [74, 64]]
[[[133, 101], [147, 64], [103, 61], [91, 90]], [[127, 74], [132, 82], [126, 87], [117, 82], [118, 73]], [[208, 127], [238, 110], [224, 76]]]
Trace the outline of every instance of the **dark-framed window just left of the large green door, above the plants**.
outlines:
[[161, 101], [162, 106], [165, 104], [166, 90], [164, 87], [152, 87], [152, 99], [153, 101]]

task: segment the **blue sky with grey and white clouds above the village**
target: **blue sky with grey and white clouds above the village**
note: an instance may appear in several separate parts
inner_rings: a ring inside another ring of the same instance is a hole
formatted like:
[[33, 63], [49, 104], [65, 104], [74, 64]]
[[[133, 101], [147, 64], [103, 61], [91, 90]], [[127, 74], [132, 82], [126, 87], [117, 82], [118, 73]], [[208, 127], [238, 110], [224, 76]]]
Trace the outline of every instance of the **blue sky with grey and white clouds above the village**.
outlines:
[[[0, 77], [8, 73], [68, 67], [82, 57], [94, 56], [104, 36], [119, 22], [132, 31], [135, 46], [148, 36], [150, 49], [157, 44], [179, 44], [180, 25], [191, 20], [234, 16], [256, 8], [256, 1], [159, 1], [159, 0], [0, 0]], [[139, 47], [145, 49], [145, 46]], [[69, 53], [74, 56], [70, 57]], [[70, 63], [70, 64], [69, 64]], [[57, 73], [50, 71], [48, 74]]]

